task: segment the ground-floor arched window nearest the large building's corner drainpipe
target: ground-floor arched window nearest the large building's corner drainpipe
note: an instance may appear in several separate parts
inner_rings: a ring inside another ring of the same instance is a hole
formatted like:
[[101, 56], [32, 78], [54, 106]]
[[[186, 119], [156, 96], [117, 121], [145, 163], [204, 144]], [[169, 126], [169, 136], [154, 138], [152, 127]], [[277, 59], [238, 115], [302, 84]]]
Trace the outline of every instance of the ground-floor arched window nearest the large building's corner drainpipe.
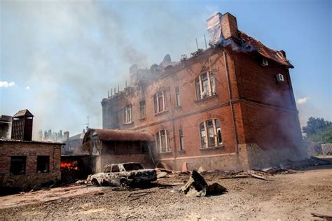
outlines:
[[200, 124], [202, 148], [215, 147], [223, 144], [219, 120], [207, 120]]

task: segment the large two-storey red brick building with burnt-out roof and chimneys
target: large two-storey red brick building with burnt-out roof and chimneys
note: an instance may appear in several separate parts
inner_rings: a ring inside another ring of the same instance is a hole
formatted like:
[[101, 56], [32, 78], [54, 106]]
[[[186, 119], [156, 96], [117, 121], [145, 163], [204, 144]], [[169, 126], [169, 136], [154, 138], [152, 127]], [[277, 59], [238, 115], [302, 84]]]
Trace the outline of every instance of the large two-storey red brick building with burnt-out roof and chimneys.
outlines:
[[172, 169], [250, 169], [302, 157], [284, 51], [237, 29], [233, 15], [207, 20], [210, 48], [150, 69], [102, 100], [103, 129], [151, 134], [155, 162]]

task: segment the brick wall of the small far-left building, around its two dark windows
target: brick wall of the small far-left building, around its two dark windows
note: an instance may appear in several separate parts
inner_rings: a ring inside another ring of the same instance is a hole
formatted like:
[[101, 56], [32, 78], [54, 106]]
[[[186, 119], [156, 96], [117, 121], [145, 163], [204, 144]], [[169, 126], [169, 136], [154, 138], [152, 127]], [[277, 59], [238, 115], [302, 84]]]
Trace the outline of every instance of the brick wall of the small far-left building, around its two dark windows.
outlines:
[[[60, 149], [55, 143], [0, 141], [0, 186], [26, 189], [60, 180]], [[24, 175], [10, 175], [12, 156], [27, 157]], [[37, 173], [37, 156], [50, 157], [48, 173]]]

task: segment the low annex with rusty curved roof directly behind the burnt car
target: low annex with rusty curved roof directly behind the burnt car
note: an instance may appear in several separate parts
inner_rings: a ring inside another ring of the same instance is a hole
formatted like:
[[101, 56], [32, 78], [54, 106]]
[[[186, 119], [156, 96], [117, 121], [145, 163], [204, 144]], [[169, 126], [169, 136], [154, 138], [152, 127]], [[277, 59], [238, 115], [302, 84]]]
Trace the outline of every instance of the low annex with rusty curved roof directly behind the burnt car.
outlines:
[[153, 167], [148, 144], [153, 141], [141, 131], [116, 129], [88, 129], [83, 139], [83, 149], [92, 157], [96, 173], [102, 171], [106, 164], [139, 162], [145, 168]]

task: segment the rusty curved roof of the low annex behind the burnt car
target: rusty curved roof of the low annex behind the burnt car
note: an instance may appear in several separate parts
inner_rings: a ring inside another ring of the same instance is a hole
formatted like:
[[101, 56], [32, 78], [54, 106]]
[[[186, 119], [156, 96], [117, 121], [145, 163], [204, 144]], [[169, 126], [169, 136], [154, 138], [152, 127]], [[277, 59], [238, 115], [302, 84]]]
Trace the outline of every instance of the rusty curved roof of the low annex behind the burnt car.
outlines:
[[142, 131], [123, 129], [89, 129], [89, 131], [90, 130], [92, 130], [92, 136], [95, 135], [94, 131], [97, 132], [100, 141], [153, 141], [151, 134]]

